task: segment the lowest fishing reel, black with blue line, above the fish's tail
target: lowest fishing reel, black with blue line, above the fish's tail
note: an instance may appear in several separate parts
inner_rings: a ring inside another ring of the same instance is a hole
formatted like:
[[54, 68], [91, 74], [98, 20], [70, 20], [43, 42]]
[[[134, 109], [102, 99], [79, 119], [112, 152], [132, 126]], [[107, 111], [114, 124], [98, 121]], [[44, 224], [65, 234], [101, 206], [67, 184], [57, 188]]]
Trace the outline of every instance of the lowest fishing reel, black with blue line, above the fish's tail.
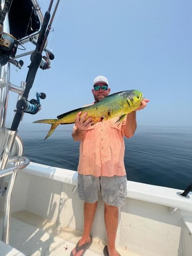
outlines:
[[36, 114], [41, 109], [40, 99], [45, 99], [45, 93], [36, 93], [37, 99], [26, 100], [24, 98], [19, 99], [16, 104], [17, 111], [19, 113]]

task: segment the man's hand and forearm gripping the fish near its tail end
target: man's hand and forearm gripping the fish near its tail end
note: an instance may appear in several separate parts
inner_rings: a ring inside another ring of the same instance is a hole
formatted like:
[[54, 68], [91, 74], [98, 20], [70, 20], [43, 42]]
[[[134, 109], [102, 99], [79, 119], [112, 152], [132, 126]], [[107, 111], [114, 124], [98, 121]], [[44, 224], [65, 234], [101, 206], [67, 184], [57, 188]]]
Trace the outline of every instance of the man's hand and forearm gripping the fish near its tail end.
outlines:
[[86, 121], [88, 113], [84, 113], [81, 117], [82, 112], [80, 111], [75, 118], [76, 129], [72, 132], [72, 137], [75, 141], [82, 140], [89, 126], [92, 124], [92, 118], [89, 117]]

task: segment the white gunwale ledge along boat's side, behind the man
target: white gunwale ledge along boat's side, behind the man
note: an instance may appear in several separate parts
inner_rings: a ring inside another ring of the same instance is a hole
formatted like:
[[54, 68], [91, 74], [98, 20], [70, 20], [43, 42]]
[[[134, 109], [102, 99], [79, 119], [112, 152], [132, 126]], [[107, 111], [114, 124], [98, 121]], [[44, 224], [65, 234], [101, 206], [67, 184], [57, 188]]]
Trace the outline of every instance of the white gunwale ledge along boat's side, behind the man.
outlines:
[[[75, 170], [30, 162], [21, 172], [73, 186], [77, 185], [77, 172]], [[185, 198], [180, 196], [182, 192], [181, 189], [127, 180], [127, 198], [192, 211], [192, 193], [190, 192]]]

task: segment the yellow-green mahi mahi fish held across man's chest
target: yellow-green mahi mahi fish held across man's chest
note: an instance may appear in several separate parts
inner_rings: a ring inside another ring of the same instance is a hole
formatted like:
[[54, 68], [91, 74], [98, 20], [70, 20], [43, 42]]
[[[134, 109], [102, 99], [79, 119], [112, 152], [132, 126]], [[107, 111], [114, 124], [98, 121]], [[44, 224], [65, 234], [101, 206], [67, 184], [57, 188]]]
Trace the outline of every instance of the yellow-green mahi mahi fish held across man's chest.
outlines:
[[143, 99], [142, 93], [138, 90], [122, 91], [111, 94], [95, 104], [63, 113], [57, 116], [57, 119], [37, 120], [34, 123], [51, 124], [51, 129], [45, 137], [47, 139], [59, 124], [75, 123], [75, 118], [80, 111], [82, 114], [88, 113], [86, 120], [92, 117], [92, 125], [114, 117], [119, 117], [116, 122], [121, 122], [128, 113], [138, 108]]

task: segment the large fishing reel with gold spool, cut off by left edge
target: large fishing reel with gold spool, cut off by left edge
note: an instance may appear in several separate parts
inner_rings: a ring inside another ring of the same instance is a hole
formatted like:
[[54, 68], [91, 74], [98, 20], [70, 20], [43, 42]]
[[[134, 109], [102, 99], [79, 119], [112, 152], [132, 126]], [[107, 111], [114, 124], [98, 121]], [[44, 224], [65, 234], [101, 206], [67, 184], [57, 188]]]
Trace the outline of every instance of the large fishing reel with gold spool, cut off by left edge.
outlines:
[[0, 64], [6, 65], [10, 57], [14, 58], [17, 51], [18, 41], [8, 33], [1, 34], [0, 37]]

